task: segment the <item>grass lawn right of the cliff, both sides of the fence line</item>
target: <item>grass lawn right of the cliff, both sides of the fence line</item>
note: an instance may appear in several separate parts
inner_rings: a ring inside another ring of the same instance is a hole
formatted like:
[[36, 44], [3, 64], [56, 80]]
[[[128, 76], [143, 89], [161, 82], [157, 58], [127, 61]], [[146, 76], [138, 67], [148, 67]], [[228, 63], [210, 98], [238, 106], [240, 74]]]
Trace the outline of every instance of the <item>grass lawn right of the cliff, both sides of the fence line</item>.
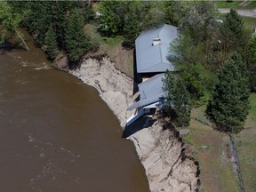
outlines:
[[[236, 135], [246, 192], [256, 191], [256, 93], [252, 93], [251, 108], [244, 130]], [[183, 136], [194, 149], [192, 156], [200, 165], [200, 192], [238, 192], [236, 174], [230, 164], [228, 135], [216, 132], [204, 116], [204, 107], [193, 108], [190, 133]], [[196, 120], [197, 119], [197, 120]], [[207, 125], [209, 124], [209, 126]]]

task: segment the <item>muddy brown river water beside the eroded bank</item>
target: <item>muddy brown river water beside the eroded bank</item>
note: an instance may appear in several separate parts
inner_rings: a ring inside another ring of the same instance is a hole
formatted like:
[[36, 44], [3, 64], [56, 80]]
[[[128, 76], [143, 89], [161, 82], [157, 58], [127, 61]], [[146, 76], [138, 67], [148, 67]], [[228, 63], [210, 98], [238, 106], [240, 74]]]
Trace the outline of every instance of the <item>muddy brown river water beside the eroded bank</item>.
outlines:
[[28, 46], [0, 51], [0, 191], [149, 191], [99, 93]]

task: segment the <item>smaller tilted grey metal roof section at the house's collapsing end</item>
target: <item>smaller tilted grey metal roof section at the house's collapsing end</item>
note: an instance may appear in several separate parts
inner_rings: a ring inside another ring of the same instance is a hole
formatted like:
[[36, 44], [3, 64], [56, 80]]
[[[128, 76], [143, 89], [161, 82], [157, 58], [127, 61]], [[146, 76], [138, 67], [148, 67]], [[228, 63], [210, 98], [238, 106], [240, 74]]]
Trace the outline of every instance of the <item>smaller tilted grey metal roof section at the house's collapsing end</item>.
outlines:
[[164, 97], [163, 81], [164, 74], [158, 74], [139, 84], [140, 100], [127, 110], [140, 108], [155, 103]]

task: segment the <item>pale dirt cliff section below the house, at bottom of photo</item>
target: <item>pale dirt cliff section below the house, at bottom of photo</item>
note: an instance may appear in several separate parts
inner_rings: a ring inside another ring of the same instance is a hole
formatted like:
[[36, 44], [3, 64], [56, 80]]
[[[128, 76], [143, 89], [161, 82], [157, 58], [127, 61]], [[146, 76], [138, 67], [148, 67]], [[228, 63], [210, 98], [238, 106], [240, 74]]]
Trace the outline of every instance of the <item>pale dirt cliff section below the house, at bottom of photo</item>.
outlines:
[[163, 130], [163, 124], [156, 121], [147, 129], [135, 132], [131, 139], [145, 167], [152, 192], [197, 190], [198, 167], [192, 158], [185, 156], [178, 132]]

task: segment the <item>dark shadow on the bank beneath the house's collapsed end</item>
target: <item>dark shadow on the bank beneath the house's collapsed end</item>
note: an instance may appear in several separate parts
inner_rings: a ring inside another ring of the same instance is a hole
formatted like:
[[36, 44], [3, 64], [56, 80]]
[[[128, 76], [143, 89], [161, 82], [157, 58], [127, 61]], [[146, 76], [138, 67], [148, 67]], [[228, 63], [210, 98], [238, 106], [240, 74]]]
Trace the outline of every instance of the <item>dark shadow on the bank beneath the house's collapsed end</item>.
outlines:
[[149, 116], [141, 116], [139, 119], [137, 119], [135, 122], [133, 122], [129, 126], [126, 125], [124, 127], [122, 138], [130, 137], [135, 132], [139, 132], [144, 128], [148, 128], [152, 126], [152, 124], [154, 124], [155, 121], [156, 120], [152, 119]]

